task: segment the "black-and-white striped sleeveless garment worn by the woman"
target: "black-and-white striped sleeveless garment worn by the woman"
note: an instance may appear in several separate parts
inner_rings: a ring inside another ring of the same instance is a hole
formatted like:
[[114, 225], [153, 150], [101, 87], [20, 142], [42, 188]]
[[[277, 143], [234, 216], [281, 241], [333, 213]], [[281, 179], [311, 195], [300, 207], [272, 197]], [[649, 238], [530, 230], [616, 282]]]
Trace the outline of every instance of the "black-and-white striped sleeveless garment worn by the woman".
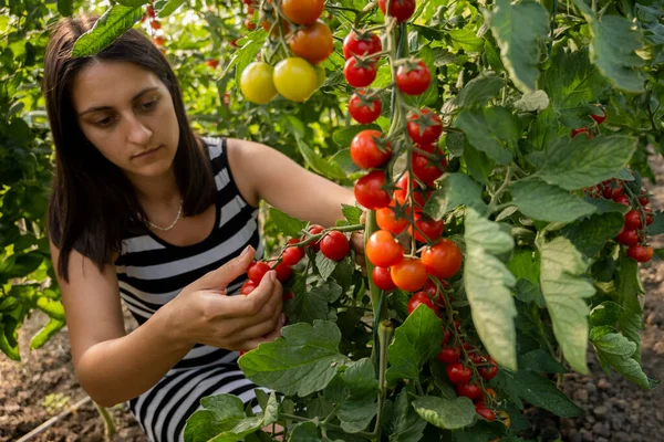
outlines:
[[[217, 186], [217, 214], [211, 233], [193, 245], [176, 246], [153, 232], [126, 238], [115, 261], [120, 295], [138, 324], [188, 284], [238, 256], [251, 244], [262, 255], [258, 209], [240, 194], [228, 165], [226, 139], [204, 138]], [[236, 295], [245, 281], [228, 286]], [[152, 389], [129, 401], [129, 409], [151, 441], [184, 441], [187, 418], [200, 398], [220, 393], [238, 396], [256, 406], [256, 386], [237, 365], [238, 352], [196, 345]]]

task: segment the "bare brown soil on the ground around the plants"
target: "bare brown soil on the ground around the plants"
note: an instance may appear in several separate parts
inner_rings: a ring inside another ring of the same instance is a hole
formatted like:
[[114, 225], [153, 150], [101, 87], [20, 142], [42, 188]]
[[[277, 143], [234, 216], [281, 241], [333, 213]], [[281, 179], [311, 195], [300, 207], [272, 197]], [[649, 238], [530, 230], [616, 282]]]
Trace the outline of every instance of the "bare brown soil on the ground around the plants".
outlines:
[[[651, 187], [653, 209], [664, 208], [664, 159], [654, 164], [658, 186]], [[664, 235], [653, 245], [664, 248]], [[642, 365], [653, 379], [664, 379], [664, 262], [647, 263], [641, 269], [645, 286], [642, 332]], [[125, 311], [127, 332], [136, 323]], [[44, 347], [30, 351], [29, 341], [43, 324], [45, 316], [35, 312], [20, 329], [21, 362], [0, 356], [0, 442], [17, 441], [53, 415], [62, 413], [84, 399], [73, 375], [66, 329], [55, 335]], [[525, 415], [532, 424], [525, 439], [571, 442], [645, 442], [662, 440], [664, 434], [664, 387], [640, 390], [613, 372], [602, 371], [594, 354], [589, 351], [590, 376], [569, 373], [562, 389], [584, 410], [575, 419], [560, 420], [541, 410], [527, 409]], [[111, 409], [117, 434], [115, 441], [147, 442], [126, 406]], [[87, 402], [31, 439], [33, 442], [104, 441], [104, 423]]]

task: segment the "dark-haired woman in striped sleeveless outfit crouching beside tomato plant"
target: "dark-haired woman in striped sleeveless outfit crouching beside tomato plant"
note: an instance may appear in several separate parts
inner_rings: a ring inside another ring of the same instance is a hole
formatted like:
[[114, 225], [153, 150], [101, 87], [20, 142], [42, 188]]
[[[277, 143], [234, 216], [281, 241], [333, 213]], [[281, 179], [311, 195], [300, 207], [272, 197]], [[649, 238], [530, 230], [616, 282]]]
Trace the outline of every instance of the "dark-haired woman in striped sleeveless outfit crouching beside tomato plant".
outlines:
[[[237, 351], [283, 325], [274, 272], [225, 296], [261, 255], [259, 201], [333, 225], [354, 198], [260, 144], [196, 136], [174, 72], [137, 30], [72, 59], [94, 21], [61, 21], [45, 55], [51, 252], [81, 386], [104, 407], [129, 401], [151, 440], [177, 441], [201, 397], [255, 399]], [[139, 324], [128, 335], [121, 298]]]

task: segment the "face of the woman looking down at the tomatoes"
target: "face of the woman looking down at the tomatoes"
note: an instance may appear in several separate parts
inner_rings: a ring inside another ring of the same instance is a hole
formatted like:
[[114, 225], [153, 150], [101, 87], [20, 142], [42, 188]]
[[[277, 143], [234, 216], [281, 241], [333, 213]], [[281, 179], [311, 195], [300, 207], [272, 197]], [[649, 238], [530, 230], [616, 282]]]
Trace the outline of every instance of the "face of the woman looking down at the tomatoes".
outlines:
[[74, 78], [72, 103], [83, 135], [131, 180], [170, 171], [179, 128], [170, 93], [128, 62], [93, 62]]

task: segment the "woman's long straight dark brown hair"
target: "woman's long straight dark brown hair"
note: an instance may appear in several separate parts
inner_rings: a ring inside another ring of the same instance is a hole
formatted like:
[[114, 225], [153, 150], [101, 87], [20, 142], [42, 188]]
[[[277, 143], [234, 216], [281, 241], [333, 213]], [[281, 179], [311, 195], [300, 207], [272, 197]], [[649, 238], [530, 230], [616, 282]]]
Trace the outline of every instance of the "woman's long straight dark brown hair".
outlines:
[[58, 273], [64, 281], [69, 281], [72, 250], [90, 257], [102, 271], [113, 252], [121, 251], [127, 233], [147, 229], [147, 217], [129, 180], [92, 146], [76, 122], [71, 88], [76, 74], [92, 61], [131, 62], [159, 77], [170, 92], [179, 126], [174, 167], [184, 199], [183, 213], [201, 213], [215, 201], [210, 161], [199, 148], [178, 81], [159, 49], [132, 29], [94, 56], [72, 57], [76, 39], [96, 20], [93, 15], [61, 20], [51, 33], [44, 60], [44, 97], [55, 144], [48, 230], [60, 249]]

